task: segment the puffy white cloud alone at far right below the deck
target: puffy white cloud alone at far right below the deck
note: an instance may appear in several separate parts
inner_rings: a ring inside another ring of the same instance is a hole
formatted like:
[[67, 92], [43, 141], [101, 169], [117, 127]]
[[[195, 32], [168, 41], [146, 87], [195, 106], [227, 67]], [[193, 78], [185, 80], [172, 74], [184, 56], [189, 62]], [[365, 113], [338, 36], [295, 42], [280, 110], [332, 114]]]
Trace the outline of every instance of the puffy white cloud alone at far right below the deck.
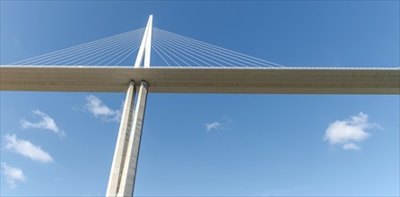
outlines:
[[360, 150], [358, 143], [370, 137], [366, 130], [381, 128], [379, 124], [372, 124], [368, 115], [360, 112], [358, 116], [351, 116], [347, 120], [336, 120], [326, 129], [324, 141], [331, 145], [341, 146], [343, 150]]

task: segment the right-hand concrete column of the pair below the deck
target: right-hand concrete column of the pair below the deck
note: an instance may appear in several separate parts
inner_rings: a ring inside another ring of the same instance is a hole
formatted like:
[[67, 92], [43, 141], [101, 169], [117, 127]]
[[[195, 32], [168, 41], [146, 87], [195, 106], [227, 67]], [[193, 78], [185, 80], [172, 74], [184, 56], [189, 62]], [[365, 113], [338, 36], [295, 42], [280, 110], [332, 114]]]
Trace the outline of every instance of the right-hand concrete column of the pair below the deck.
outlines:
[[126, 150], [126, 160], [117, 196], [131, 197], [134, 193], [137, 159], [139, 157], [140, 140], [142, 137], [144, 110], [146, 107], [148, 87], [149, 86], [147, 82], [142, 81], [139, 94], [137, 96], [134, 122], [131, 135], [129, 136], [129, 144]]

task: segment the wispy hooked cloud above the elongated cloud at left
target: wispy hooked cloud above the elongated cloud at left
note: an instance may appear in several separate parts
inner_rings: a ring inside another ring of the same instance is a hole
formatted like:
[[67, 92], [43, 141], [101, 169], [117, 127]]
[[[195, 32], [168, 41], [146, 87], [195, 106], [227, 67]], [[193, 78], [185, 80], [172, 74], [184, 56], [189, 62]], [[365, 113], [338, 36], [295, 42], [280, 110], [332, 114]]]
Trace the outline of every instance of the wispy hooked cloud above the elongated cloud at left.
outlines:
[[50, 130], [54, 133], [57, 133], [59, 135], [65, 135], [64, 131], [58, 128], [56, 121], [44, 112], [41, 112], [40, 110], [32, 110], [33, 116], [39, 116], [40, 120], [37, 123], [32, 123], [30, 121], [27, 121], [25, 119], [21, 120], [21, 126], [23, 129], [29, 129], [29, 128], [38, 128], [38, 129], [47, 129]]

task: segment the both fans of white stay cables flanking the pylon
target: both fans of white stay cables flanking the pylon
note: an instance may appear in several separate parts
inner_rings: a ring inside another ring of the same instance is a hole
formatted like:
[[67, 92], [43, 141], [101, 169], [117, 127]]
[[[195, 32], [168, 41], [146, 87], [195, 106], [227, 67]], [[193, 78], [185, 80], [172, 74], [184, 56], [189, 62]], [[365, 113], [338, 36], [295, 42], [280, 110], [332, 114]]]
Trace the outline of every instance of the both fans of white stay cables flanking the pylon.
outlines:
[[[32, 57], [9, 65], [133, 65], [144, 28]], [[159, 59], [157, 59], [159, 57]], [[158, 61], [157, 61], [158, 60]], [[165, 64], [164, 64], [165, 63]], [[152, 28], [152, 65], [171, 67], [283, 67], [167, 30]]]

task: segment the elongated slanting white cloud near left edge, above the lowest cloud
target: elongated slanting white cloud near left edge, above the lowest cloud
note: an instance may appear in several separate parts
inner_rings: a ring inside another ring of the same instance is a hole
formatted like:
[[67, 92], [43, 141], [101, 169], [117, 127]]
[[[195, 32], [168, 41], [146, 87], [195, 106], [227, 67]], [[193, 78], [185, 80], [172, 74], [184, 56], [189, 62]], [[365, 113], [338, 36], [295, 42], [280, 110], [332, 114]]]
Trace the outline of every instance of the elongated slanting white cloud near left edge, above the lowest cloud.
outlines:
[[7, 134], [4, 136], [4, 139], [4, 148], [7, 150], [13, 150], [24, 157], [42, 163], [53, 161], [53, 158], [48, 154], [48, 152], [41, 150], [39, 146], [32, 144], [30, 141], [18, 139], [15, 134]]

